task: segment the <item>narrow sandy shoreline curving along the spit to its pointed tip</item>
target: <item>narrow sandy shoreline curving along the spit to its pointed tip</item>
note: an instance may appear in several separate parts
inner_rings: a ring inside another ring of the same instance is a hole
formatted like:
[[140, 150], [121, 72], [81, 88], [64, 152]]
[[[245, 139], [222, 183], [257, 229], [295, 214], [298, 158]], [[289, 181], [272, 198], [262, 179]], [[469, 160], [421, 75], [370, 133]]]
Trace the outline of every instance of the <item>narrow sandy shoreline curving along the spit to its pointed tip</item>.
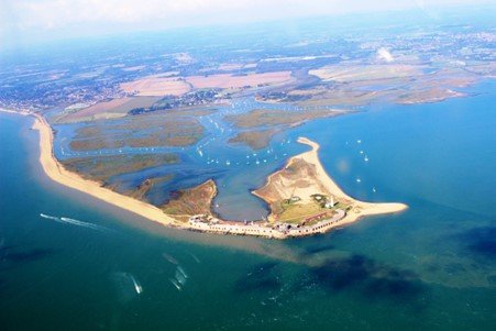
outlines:
[[[323, 183], [326, 185], [326, 188], [328, 188], [330, 191], [332, 191], [337, 197], [342, 197], [342, 198], [354, 201], [356, 203], [355, 206], [361, 208], [360, 212], [356, 213], [354, 211], [351, 211], [349, 213], [341, 214], [341, 217], [338, 219], [326, 220], [326, 224], [322, 224], [322, 227], [319, 227], [318, 229], [312, 229], [310, 232], [308, 230], [307, 231], [299, 230], [299, 231], [283, 232], [278, 229], [275, 229], [273, 227], [274, 224], [263, 224], [262, 222], [252, 222], [249, 224], [243, 224], [242, 222], [234, 223], [234, 222], [230, 222], [230, 221], [223, 221], [223, 220], [220, 220], [217, 218], [213, 218], [214, 223], [212, 223], [212, 224], [192, 221], [192, 220], [198, 219], [198, 216], [190, 216], [188, 222], [181, 222], [181, 221], [175, 219], [173, 216], [165, 213], [162, 209], [159, 209], [151, 203], [134, 199], [129, 196], [118, 194], [109, 188], [101, 187], [98, 181], [85, 179], [77, 173], [67, 170], [56, 159], [56, 157], [53, 153], [54, 133], [53, 133], [52, 126], [46, 122], [46, 120], [44, 119], [43, 115], [41, 115], [38, 113], [34, 113], [34, 112], [14, 112], [14, 111], [8, 111], [8, 112], [18, 113], [18, 114], [22, 114], [22, 115], [32, 115], [34, 118], [35, 122], [34, 122], [32, 129], [38, 131], [38, 133], [40, 133], [38, 161], [40, 161], [40, 164], [42, 165], [44, 173], [47, 175], [48, 178], [51, 178], [52, 180], [54, 180], [63, 186], [66, 186], [66, 187], [73, 188], [75, 190], [78, 190], [80, 192], [87, 194], [93, 198], [97, 198], [107, 203], [110, 203], [112, 206], [115, 206], [115, 207], [119, 207], [126, 211], [130, 211], [136, 216], [146, 218], [151, 221], [161, 223], [162, 225], [168, 227], [168, 228], [184, 229], [184, 230], [191, 230], [191, 231], [197, 231], [197, 232], [214, 233], [214, 234], [235, 234], [235, 235], [264, 236], [264, 238], [268, 238], [268, 239], [287, 239], [287, 238], [307, 236], [307, 235], [312, 235], [312, 234], [318, 234], [318, 233], [324, 233], [324, 232], [330, 231], [333, 228], [355, 222], [359, 219], [366, 217], [366, 216], [394, 213], [394, 212], [399, 212], [399, 211], [407, 209], [407, 206], [403, 205], [403, 203], [372, 203], [372, 202], [357, 201], [357, 200], [354, 200], [353, 198], [349, 197], [329, 177], [329, 175], [326, 173], [322, 165], [320, 164], [320, 161], [319, 161], [318, 154], [317, 154], [320, 146], [317, 143], [315, 143], [308, 139], [300, 137], [298, 140], [298, 142], [309, 145], [311, 147], [311, 150], [308, 152], [301, 153], [299, 155], [290, 157], [284, 168], [286, 168], [288, 165], [290, 165], [297, 158], [304, 158], [305, 161], [313, 164], [318, 172], [319, 179], [321, 180], [321, 183]], [[268, 185], [271, 183], [271, 178], [279, 172], [271, 174], [267, 177], [266, 185]], [[216, 186], [216, 190], [217, 190], [217, 186]], [[252, 192], [252, 194], [257, 196], [255, 192]]]

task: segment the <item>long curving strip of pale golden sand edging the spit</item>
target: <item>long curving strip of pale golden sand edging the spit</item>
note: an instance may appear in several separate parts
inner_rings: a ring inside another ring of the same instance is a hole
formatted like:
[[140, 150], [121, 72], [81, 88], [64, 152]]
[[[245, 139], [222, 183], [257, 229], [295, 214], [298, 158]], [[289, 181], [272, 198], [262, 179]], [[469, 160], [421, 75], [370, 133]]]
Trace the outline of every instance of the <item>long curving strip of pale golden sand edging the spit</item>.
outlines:
[[[67, 170], [56, 158], [53, 154], [53, 131], [49, 124], [46, 122], [46, 120], [37, 113], [23, 113], [23, 114], [31, 114], [35, 118], [35, 122], [33, 124], [33, 130], [37, 130], [40, 132], [40, 163], [43, 167], [43, 170], [45, 174], [54, 181], [70, 187], [73, 189], [76, 189], [78, 191], [88, 194], [95, 198], [98, 198], [102, 201], [106, 201], [108, 203], [111, 203], [113, 206], [117, 206], [119, 208], [125, 209], [130, 212], [133, 212], [137, 216], [144, 217], [151, 221], [158, 222], [166, 227], [174, 227], [174, 228], [181, 228], [181, 229], [191, 229], [191, 230], [200, 230], [205, 232], [210, 233], [220, 233], [225, 234], [224, 229], [219, 228], [217, 229], [199, 229], [198, 227], [194, 227], [190, 222], [180, 222], [179, 220], [176, 220], [172, 216], [168, 216], [164, 213], [164, 211], [153, 205], [146, 203], [144, 201], [120, 195], [113, 190], [110, 190], [108, 188], [101, 187], [99, 183], [88, 180], [82, 178], [80, 175]], [[382, 213], [393, 213], [393, 212], [399, 212], [405, 209], [407, 209], [406, 205], [403, 203], [372, 203], [372, 202], [363, 202], [357, 201], [350, 196], [348, 196], [345, 192], [343, 192], [339, 186], [329, 177], [329, 175], [323, 169], [322, 165], [320, 164], [319, 157], [318, 157], [318, 151], [319, 145], [308, 139], [300, 137], [298, 140], [299, 143], [307, 144], [311, 147], [310, 151], [305, 152], [302, 154], [296, 155], [287, 162], [287, 165], [290, 165], [297, 159], [305, 159], [307, 163], [315, 165], [317, 177], [319, 185], [323, 186], [324, 189], [332, 195], [334, 195], [337, 198], [343, 198], [350, 201], [353, 201], [354, 209], [349, 211], [346, 216], [341, 219], [339, 222], [337, 222], [333, 225], [326, 227], [322, 231], [316, 231], [312, 233], [306, 233], [301, 235], [309, 235], [313, 233], [320, 233], [320, 232], [327, 232], [335, 227], [341, 227], [343, 224], [352, 223], [357, 221], [359, 219], [366, 217], [366, 216], [373, 216], [373, 214], [382, 214]], [[279, 170], [280, 172], [280, 170]], [[272, 174], [266, 185], [271, 185], [271, 180], [274, 178], [275, 175], [277, 175], [278, 172]], [[284, 190], [290, 191], [294, 189], [291, 187], [284, 187]], [[256, 192], [254, 192], [256, 195]], [[266, 197], [261, 198], [266, 199]], [[223, 222], [222, 220], [220, 220]], [[254, 225], [231, 225], [232, 229], [230, 229], [231, 234], [247, 234], [247, 235], [262, 235], [262, 236], [268, 236], [268, 238], [278, 238], [284, 239], [287, 238], [286, 234], [283, 233], [275, 233], [277, 231], [272, 230], [269, 227], [262, 227], [261, 224], [254, 224]], [[239, 228], [239, 229], [238, 229]], [[253, 228], [253, 229], [252, 229]], [[262, 231], [257, 231], [254, 229], [266, 229], [266, 231], [263, 231], [265, 234], [260, 234]], [[271, 229], [271, 230], [269, 230]], [[269, 230], [269, 231], [268, 231]], [[253, 233], [251, 233], [253, 232]], [[257, 234], [256, 234], [256, 233]], [[299, 236], [299, 234], [293, 234], [291, 236]]]

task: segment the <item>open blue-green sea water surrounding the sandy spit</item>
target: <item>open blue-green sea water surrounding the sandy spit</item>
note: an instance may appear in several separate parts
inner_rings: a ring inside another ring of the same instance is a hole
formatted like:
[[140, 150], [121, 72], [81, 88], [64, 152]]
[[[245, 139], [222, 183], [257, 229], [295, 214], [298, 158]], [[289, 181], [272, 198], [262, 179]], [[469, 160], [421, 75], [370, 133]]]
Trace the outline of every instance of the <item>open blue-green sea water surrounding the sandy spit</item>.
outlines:
[[[288, 156], [319, 142], [350, 195], [410, 207], [284, 242], [164, 229], [60, 187], [31, 120], [1, 113], [0, 329], [494, 330], [495, 87], [277, 136]], [[220, 205], [271, 167], [219, 176]]]

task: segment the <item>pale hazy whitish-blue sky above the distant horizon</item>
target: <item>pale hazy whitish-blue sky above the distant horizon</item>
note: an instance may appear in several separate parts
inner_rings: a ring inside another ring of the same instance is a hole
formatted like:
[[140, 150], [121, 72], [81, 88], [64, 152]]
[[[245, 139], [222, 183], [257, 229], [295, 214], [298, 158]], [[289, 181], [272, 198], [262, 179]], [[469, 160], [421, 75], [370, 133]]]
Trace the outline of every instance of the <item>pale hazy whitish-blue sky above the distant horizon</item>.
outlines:
[[[436, 15], [487, 0], [0, 0], [0, 47], [180, 26], [401, 9]], [[491, 1], [491, 0], [489, 0]], [[1, 51], [1, 49], [0, 49]]]

